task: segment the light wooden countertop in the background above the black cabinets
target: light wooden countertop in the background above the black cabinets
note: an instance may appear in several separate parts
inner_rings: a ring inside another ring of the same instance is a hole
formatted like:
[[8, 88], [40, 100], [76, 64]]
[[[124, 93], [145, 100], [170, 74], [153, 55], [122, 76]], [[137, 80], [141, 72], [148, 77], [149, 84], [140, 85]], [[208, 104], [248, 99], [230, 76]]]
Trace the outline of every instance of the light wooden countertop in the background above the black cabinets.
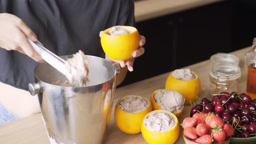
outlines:
[[223, 0], [139, 0], [135, 1], [136, 22], [192, 9]]

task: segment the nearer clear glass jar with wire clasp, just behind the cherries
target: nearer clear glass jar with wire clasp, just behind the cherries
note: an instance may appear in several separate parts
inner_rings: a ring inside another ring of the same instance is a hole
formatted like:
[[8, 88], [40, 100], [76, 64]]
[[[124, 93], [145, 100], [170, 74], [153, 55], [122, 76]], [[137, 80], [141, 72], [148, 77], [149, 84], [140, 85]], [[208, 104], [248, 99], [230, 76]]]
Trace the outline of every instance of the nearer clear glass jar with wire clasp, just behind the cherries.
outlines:
[[240, 78], [241, 71], [238, 65], [231, 63], [214, 65], [210, 71], [210, 93], [239, 92]]

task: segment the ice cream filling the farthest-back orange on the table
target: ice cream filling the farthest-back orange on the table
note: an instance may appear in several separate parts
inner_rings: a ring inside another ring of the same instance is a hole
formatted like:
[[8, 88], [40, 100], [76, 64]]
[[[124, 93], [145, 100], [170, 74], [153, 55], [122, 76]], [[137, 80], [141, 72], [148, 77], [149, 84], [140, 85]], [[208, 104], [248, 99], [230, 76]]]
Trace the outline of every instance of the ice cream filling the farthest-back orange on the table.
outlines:
[[190, 71], [190, 69], [176, 69], [174, 70], [172, 76], [176, 79], [181, 79], [184, 81], [195, 79], [195, 75]]

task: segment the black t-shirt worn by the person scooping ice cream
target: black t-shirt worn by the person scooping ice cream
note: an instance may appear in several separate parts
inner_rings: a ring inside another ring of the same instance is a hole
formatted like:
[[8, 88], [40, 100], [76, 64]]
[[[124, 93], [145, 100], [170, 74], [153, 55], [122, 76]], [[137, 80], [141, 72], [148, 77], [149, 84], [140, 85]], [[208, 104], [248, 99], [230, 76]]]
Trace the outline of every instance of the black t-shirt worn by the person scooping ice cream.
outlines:
[[[111, 26], [135, 26], [132, 0], [0, 0], [0, 13], [20, 17], [58, 56], [81, 49], [105, 58], [99, 32]], [[37, 64], [20, 52], [0, 48], [0, 81], [27, 90]]]

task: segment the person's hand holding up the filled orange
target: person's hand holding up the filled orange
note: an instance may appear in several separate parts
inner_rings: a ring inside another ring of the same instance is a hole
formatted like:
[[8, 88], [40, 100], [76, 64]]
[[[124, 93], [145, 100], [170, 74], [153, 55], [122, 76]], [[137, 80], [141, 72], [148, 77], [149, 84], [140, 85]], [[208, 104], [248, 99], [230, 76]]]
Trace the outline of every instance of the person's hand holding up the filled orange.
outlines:
[[[99, 36], [100, 36], [100, 37], [102, 36], [102, 33], [103, 33], [103, 31], [101, 31], [101, 32], [99, 33]], [[117, 63], [119, 63], [119, 65], [120, 65], [122, 68], [124, 68], [125, 65], [127, 65], [128, 70], [129, 70], [130, 72], [132, 72], [132, 71], [133, 71], [133, 62], [134, 62], [135, 58], [137, 58], [137, 57], [143, 55], [144, 52], [145, 52], [145, 49], [143, 48], [143, 46], [144, 46], [145, 43], [146, 43], [146, 38], [145, 38], [144, 36], [141, 36], [141, 35], [140, 35], [139, 48], [136, 49], [134, 52], [132, 52], [132, 58], [131, 58], [131, 59], [128, 59], [128, 60], [125, 60], [125, 61], [120, 61], [120, 60], [111, 59], [111, 58], [108, 57], [107, 55], [106, 55], [106, 58], [105, 58], [105, 59], [108, 59], [108, 60], [110, 60], [110, 61], [112, 61], [112, 62], [117, 62]]]

